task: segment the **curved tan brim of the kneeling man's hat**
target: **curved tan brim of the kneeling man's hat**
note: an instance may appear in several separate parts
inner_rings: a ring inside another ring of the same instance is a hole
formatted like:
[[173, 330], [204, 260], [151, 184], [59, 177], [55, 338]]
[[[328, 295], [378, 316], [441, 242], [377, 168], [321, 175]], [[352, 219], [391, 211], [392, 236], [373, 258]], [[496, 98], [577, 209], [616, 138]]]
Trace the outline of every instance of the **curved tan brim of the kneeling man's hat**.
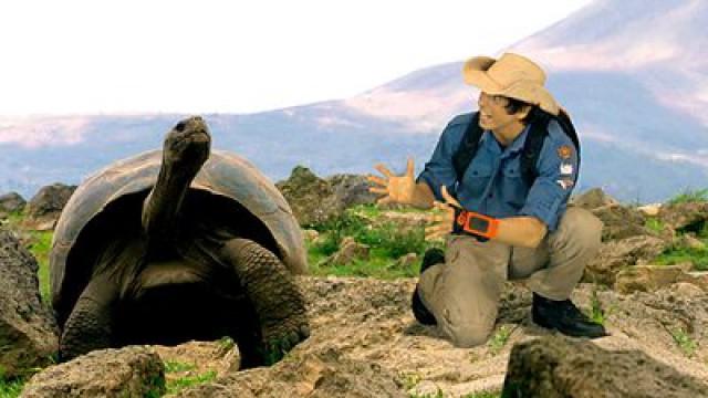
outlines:
[[490, 95], [501, 95], [520, 100], [532, 105], [538, 105], [541, 109], [552, 115], [559, 114], [559, 103], [542, 85], [531, 81], [520, 81], [509, 87], [503, 87], [493, 78], [489, 77], [487, 71], [496, 62], [496, 59], [489, 56], [476, 56], [465, 62], [465, 66], [462, 67], [465, 83], [473, 85]]

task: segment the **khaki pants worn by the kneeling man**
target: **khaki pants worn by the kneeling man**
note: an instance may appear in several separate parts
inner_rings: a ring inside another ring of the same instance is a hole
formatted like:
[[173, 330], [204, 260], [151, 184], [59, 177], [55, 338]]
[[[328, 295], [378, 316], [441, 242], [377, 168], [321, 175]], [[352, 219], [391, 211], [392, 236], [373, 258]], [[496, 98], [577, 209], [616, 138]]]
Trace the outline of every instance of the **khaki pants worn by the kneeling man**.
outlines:
[[420, 275], [423, 303], [458, 347], [483, 344], [497, 321], [507, 279], [551, 300], [565, 300], [600, 249], [602, 222], [587, 210], [569, 207], [558, 230], [537, 249], [517, 248], [468, 235], [451, 235], [445, 264]]

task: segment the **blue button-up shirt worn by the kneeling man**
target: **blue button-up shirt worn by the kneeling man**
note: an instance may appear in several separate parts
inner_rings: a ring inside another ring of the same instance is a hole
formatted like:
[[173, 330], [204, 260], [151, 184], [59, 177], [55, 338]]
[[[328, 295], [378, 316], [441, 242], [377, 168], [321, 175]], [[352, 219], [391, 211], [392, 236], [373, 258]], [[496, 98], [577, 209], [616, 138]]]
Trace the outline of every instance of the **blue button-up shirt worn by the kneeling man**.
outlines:
[[577, 175], [577, 154], [572, 140], [558, 123], [549, 124], [537, 164], [539, 176], [529, 187], [521, 175], [520, 161], [529, 126], [507, 147], [499, 145], [491, 132], [485, 132], [475, 158], [458, 181], [452, 155], [469, 121], [471, 115], [466, 114], [448, 124], [418, 181], [427, 182], [438, 200], [442, 200], [440, 188], [446, 186], [468, 210], [493, 218], [532, 216], [554, 231]]

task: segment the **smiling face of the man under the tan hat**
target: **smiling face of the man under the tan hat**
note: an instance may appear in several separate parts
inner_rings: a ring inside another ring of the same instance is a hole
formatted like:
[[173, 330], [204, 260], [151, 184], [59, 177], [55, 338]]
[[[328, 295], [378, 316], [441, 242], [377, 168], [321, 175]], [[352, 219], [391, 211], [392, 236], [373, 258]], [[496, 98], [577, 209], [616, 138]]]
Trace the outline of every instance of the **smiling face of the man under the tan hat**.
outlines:
[[500, 95], [489, 95], [479, 93], [479, 126], [486, 130], [491, 130], [501, 145], [509, 145], [523, 132], [523, 118], [529, 113], [529, 107], [523, 107], [519, 112], [509, 114], [507, 105], [509, 98]]

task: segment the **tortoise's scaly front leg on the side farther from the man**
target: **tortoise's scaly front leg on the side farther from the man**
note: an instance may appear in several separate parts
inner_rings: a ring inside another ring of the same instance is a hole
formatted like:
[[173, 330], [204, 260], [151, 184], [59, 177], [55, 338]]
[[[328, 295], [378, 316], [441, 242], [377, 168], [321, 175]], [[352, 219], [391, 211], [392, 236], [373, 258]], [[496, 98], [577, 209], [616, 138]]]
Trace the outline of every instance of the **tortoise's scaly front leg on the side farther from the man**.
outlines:
[[62, 362], [94, 349], [111, 347], [113, 312], [117, 298], [115, 282], [101, 276], [88, 282], [64, 324], [59, 344]]

